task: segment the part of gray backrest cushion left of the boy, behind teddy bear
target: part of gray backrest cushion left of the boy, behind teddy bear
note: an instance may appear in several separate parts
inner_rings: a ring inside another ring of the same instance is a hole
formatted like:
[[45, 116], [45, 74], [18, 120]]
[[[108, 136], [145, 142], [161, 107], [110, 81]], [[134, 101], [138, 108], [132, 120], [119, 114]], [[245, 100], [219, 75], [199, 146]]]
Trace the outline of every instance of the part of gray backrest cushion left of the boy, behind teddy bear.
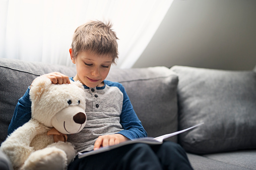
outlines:
[[54, 71], [67, 76], [76, 74], [75, 68], [65, 66], [0, 59], [0, 143], [7, 137], [8, 126], [19, 98], [37, 76]]

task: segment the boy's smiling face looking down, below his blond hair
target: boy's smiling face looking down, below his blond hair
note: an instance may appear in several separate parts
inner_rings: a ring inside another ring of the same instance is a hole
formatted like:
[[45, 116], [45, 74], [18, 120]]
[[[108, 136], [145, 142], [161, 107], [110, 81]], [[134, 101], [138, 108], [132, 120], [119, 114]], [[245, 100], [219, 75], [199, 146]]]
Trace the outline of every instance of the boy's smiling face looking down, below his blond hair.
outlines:
[[107, 77], [112, 64], [111, 56], [85, 51], [78, 53], [74, 58], [71, 52], [71, 59], [77, 67], [75, 81], [79, 80], [88, 87], [104, 86], [103, 80]]

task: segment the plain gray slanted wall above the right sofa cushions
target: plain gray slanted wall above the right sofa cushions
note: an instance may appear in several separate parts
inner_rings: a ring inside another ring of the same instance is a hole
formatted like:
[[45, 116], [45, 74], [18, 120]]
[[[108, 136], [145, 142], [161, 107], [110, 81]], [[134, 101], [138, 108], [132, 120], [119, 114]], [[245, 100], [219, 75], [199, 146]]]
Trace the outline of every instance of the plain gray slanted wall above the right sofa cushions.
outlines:
[[174, 0], [133, 66], [251, 70], [256, 65], [256, 1]]

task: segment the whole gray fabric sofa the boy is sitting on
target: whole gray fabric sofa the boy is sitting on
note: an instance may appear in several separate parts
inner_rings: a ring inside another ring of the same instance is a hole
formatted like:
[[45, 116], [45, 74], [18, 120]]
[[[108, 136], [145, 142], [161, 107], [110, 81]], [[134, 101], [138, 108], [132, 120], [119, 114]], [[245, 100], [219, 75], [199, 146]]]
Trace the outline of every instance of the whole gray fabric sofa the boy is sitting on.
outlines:
[[[0, 143], [18, 99], [31, 82], [49, 72], [75, 68], [0, 59]], [[174, 66], [112, 68], [107, 80], [123, 84], [148, 136], [205, 122], [173, 136], [195, 169], [256, 169], [256, 73]], [[10, 167], [0, 153], [0, 169]]]

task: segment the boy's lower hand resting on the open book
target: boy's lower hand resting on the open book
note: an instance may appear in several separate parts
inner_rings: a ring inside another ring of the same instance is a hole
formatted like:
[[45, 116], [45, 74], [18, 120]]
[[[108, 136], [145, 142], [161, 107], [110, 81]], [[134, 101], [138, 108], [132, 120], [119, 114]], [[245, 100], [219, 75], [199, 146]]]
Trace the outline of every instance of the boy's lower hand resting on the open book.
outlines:
[[100, 147], [119, 144], [120, 142], [123, 142], [126, 140], [129, 140], [129, 139], [121, 134], [111, 134], [111, 135], [99, 136], [94, 143], [93, 150], [97, 150]]

